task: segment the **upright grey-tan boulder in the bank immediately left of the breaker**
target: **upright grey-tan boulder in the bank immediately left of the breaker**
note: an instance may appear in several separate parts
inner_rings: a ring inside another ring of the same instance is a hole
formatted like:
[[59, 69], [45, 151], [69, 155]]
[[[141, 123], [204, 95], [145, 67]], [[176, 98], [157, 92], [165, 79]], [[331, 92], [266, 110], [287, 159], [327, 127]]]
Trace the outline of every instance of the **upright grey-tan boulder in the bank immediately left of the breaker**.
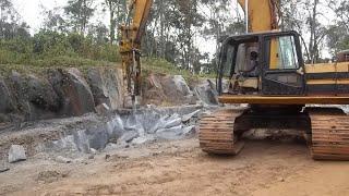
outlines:
[[118, 69], [91, 69], [87, 81], [95, 99], [95, 106], [106, 103], [112, 110], [122, 108], [122, 72]]

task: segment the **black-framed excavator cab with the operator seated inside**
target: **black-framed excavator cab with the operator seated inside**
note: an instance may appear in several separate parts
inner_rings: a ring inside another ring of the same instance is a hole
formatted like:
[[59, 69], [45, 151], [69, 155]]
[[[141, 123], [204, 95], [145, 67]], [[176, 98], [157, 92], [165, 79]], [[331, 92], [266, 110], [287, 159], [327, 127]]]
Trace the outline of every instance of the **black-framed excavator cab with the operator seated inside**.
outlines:
[[[220, 95], [303, 96], [304, 62], [296, 32], [231, 36], [221, 46]], [[222, 81], [229, 81], [228, 91]]]

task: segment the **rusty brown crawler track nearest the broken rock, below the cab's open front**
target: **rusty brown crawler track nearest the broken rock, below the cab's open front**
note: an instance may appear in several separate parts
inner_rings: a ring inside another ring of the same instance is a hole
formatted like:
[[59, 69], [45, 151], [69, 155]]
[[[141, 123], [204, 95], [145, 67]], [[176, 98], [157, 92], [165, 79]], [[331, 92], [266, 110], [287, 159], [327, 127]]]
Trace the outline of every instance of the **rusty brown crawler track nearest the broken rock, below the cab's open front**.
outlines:
[[200, 122], [200, 147], [214, 155], [237, 155], [243, 147], [233, 135], [234, 120], [240, 110], [221, 110], [204, 117]]

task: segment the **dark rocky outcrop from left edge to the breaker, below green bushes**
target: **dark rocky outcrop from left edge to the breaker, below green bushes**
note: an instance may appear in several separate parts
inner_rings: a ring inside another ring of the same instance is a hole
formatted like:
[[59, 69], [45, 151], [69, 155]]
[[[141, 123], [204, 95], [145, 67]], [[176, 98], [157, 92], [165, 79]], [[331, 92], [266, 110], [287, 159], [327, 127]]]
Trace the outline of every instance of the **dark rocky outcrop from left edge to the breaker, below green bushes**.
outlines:
[[120, 73], [113, 68], [91, 69], [87, 77], [77, 69], [38, 74], [13, 71], [0, 77], [0, 123], [79, 117], [104, 103], [118, 109], [122, 106]]

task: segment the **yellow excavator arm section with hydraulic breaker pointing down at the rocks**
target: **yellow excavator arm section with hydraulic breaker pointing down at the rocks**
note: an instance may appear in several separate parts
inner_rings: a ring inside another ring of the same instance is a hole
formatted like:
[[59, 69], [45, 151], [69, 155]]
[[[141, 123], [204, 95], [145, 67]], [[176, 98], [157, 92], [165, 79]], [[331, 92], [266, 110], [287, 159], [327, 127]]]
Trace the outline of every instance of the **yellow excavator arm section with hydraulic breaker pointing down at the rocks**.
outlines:
[[141, 41], [152, 4], [153, 0], [131, 0], [127, 23], [120, 26], [125, 108], [134, 106], [142, 94]]

